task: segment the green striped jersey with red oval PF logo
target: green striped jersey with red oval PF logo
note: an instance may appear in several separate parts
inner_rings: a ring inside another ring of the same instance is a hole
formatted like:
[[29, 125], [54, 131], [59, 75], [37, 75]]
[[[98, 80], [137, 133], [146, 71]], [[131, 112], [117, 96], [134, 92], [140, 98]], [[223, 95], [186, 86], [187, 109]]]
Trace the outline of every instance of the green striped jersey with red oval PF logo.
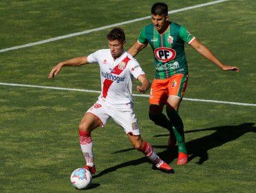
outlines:
[[149, 43], [154, 52], [155, 78], [167, 79], [174, 74], [188, 74], [184, 43], [192, 43], [194, 35], [177, 23], [170, 22], [168, 28], [159, 34], [153, 23], [140, 32], [138, 43]]

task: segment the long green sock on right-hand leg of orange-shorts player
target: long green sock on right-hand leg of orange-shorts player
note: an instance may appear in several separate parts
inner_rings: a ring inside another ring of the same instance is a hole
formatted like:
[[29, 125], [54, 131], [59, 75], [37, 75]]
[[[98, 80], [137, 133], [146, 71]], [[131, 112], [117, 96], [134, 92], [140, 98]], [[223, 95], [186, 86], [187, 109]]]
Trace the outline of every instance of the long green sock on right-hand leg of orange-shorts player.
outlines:
[[179, 152], [188, 154], [188, 151], [185, 147], [185, 136], [181, 116], [179, 116], [179, 113], [176, 110], [167, 110], [166, 112], [172, 123], [172, 129], [174, 130], [174, 134], [178, 142]]

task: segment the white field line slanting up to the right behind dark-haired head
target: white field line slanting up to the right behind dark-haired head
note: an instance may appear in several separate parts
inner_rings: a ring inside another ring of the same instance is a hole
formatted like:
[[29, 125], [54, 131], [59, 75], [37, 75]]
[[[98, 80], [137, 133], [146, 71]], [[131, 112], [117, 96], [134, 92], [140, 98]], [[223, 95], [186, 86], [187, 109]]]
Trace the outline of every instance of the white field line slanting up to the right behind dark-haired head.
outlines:
[[[229, 1], [229, 0], [211, 1], [209, 3], [202, 3], [202, 4], [199, 4], [199, 5], [196, 5], [196, 6], [181, 8], [179, 10], [172, 10], [168, 13], [169, 14], [174, 14], [174, 13], [177, 13], [177, 12], [183, 12], [183, 11], [187, 11], [187, 10], [193, 10], [193, 9], [196, 9], [196, 8], [202, 8], [202, 7], [205, 7], [205, 6], [210, 6], [210, 5], [217, 4], [217, 3], [222, 3], [222, 2], [225, 2], [225, 1]], [[132, 19], [132, 20], [129, 20], [129, 21], [123, 21], [123, 22], [120, 22], [120, 23], [115, 23], [115, 24], [112, 24], [112, 25], [109, 25], [109, 26], [103, 26], [103, 27], [100, 27], [100, 28], [85, 30], [83, 32], [76, 32], [76, 33], [73, 33], [73, 34], [66, 34], [66, 35], [63, 35], [63, 36], [60, 36], [60, 37], [53, 37], [51, 39], [45, 39], [45, 40], [42, 40], [42, 41], [36, 41], [36, 42], [33, 42], [33, 43], [27, 43], [27, 44], [24, 44], [24, 45], [17, 45], [15, 47], [11, 47], [11, 48], [3, 48], [3, 49], [0, 50], [0, 52], [7, 52], [7, 51], [10, 51], [10, 50], [17, 50], [17, 49], [20, 49], [20, 48], [31, 47], [33, 45], [39, 45], [39, 44], [48, 43], [48, 42], [51, 42], [51, 41], [66, 39], [68, 37], [75, 37], [75, 36], [79, 36], [79, 35], [82, 35], [82, 34], [89, 34], [91, 32], [97, 32], [97, 31], [100, 31], [100, 30], [105, 30], [105, 29], [108, 29], [108, 28], [113, 28], [113, 27], [121, 26], [121, 25], [124, 25], [124, 24], [127, 24], [127, 23], [134, 23], [136, 21], [142, 21], [142, 20], [150, 19], [150, 18], [151, 18], [151, 16], [141, 17], [141, 18], [138, 18], [138, 19]]]

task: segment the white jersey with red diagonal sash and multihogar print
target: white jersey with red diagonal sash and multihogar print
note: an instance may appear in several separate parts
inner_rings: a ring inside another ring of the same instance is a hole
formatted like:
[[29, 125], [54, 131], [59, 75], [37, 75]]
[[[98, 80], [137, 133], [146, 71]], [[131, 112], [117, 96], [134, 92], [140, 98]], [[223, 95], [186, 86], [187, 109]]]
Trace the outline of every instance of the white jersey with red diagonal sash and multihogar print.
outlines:
[[109, 49], [93, 52], [87, 60], [100, 65], [102, 92], [99, 100], [109, 105], [118, 105], [118, 108], [132, 107], [132, 81], [145, 74], [138, 61], [127, 52], [113, 59]]

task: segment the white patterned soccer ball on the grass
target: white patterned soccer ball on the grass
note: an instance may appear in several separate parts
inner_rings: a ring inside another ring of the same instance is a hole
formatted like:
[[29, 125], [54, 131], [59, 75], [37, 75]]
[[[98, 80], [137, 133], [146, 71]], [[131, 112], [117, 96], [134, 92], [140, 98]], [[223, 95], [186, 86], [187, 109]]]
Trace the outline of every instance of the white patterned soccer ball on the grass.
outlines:
[[71, 183], [75, 189], [84, 190], [91, 185], [91, 172], [84, 168], [78, 168], [71, 174]]

